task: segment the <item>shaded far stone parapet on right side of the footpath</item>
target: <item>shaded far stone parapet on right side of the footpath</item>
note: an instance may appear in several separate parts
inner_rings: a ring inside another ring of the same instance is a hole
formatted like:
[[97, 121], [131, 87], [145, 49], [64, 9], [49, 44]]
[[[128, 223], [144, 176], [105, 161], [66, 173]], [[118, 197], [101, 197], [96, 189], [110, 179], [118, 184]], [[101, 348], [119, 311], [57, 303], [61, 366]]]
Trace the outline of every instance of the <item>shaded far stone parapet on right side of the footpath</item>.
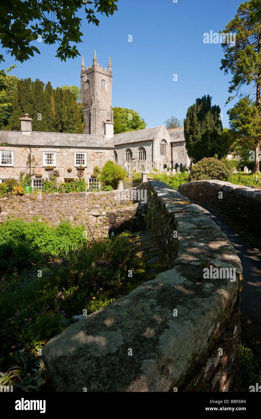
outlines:
[[260, 189], [209, 180], [181, 184], [178, 191], [190, 199], [209, 204], [220, 214], [247, 227], [253, 233], [261, 234]]

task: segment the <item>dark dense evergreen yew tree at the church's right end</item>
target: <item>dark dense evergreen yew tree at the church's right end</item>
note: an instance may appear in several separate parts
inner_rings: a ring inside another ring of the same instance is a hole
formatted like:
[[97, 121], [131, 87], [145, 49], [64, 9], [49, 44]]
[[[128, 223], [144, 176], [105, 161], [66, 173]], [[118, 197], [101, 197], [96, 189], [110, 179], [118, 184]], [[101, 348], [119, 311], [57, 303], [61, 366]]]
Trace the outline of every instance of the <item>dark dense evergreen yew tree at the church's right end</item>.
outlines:
[[212, 97], [207, 95], [189, 107], [184, 120], [186, 150], [192, 163], [203, 157], [213, 157], [220, 142], [222, 122], [220, 107], [211, 106]]

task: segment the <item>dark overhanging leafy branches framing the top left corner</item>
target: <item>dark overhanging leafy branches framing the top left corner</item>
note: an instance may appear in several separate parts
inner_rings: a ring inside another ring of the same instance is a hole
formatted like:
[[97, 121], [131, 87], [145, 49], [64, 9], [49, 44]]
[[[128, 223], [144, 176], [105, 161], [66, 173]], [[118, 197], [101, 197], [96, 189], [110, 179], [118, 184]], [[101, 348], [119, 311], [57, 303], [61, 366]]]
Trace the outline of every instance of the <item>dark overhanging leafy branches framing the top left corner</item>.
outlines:
[[[79, 54], [76, 44], [82, 42], [83, 33], [80, 32], [81, 21], [77, 15], [82, 7], [85, 9], [88, 23], [98, 26], [99, 21], [96, 13], [113, 15], [117, 9], [118, 0], [31, 0], [22, 2], [2, 2], [0, 18], [0, 39], [2, 47], [15, 56], [17, 61], [23, 62], [34, 56], [34, 52], [40, 54], [31, 42], [42, 36], [44, 44], [52, 45], [59, 43], [57, 55], [61, 61], [67, 58], [75, 58]], [[88, 8], [92, 5], [93, 8]], [[95, 9], [95, 10], [94, 10]], [[34, 25], [34, 26], [33, 26]], [[72, 44], [73, 43], [73, 44]], [[0, 61], [4, 61], [0, 55]]]

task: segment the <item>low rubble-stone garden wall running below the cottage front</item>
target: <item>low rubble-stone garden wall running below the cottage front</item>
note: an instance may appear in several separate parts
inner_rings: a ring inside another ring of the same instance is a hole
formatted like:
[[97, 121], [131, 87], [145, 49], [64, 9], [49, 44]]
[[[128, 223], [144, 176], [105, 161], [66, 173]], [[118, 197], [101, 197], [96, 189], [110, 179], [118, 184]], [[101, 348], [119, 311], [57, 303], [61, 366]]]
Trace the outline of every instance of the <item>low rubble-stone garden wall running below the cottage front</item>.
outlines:
[[128, 197], [131, 198], [128, 193], [123, 195], [119, 191], [109, 191], [0, 198], [0, 223], [8, 215], [26, 221], [37, 217], [39, 221], [49, 222], [50, 225], [69, 220], [72, 225], [84, 223], [87, 234], [91, 230], [95, 238], [105, 237], [108, 231], [144, 230], [145, 208], [141, 205], [138, 207], [138, 203], [128, 206], [133, 201]]

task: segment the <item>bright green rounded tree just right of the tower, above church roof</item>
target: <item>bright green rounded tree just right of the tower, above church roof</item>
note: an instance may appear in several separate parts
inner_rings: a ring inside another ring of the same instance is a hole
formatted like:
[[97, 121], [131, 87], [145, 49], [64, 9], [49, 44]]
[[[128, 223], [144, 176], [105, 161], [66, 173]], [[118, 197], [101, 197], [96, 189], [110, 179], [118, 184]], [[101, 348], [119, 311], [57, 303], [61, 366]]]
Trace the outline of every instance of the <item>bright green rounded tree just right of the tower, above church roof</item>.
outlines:
[[133, 109], [114, 107], [114, 134], [146, 128], [146, 122]]

